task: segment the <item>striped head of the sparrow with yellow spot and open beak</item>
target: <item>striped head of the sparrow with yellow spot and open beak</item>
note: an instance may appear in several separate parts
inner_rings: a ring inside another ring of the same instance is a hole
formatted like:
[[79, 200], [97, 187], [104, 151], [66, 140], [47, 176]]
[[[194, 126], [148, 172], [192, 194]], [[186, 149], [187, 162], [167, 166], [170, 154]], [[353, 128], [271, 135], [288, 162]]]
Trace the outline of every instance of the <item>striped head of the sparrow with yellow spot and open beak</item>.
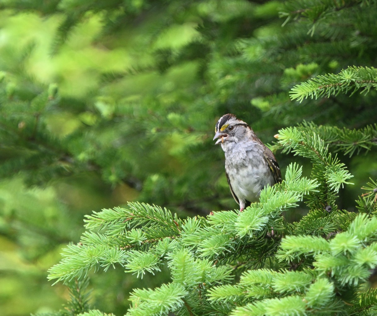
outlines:
[[216, 123], [213, 140], [218, 138], [215, 144], [238, 143], [245, 138], [248, 130], [251, 130], [250, 126], [236, 118], [234, 114], [225, 114]]

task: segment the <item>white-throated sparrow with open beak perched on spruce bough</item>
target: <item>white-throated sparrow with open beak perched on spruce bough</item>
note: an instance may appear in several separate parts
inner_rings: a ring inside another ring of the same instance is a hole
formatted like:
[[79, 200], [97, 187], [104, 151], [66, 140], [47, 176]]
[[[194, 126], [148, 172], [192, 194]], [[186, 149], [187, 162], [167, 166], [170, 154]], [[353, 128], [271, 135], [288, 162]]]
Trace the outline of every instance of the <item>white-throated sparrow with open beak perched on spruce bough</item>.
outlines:
[[215, 126], [215, 144], [225, 153], [225, 174], [240, 212], [259, 201], [261, 190], [282, 181], [279, 164], [253, 129], [234, 114], [223, 115]]

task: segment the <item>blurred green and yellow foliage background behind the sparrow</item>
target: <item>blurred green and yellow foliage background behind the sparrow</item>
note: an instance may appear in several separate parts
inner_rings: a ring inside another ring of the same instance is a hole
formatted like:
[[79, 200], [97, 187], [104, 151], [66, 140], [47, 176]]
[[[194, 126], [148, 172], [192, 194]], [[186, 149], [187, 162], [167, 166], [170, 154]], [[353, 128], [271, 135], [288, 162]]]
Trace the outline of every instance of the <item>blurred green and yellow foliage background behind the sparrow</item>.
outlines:
[[[312, 15], [299, 11], [304, 5], [0, 1], [2, 315], [61, 308], [67, 289], [51, 287], [47, 270], [79, 241], [92, 211], [127, 201], [182, 217], [236, 208], [212, 141], [221, 115], [236, 114], [269, 144], [279, 128], [303, 121], [376, 122], [375, 91], [290, 99], [291, 87], [316, 75], [376, 66], [375, 5], [323, 2]], [[310, 174], [307, 161], [276, 156], [283, 175], [291, 161]], [[341, 192], [341, 207], [352, 210], [376, 178], [375, 158], [375, 150], [340, 156], [355, 183]], [[91, 302], [123, 315], [132, 288], [160, 281], [98, 272]]]

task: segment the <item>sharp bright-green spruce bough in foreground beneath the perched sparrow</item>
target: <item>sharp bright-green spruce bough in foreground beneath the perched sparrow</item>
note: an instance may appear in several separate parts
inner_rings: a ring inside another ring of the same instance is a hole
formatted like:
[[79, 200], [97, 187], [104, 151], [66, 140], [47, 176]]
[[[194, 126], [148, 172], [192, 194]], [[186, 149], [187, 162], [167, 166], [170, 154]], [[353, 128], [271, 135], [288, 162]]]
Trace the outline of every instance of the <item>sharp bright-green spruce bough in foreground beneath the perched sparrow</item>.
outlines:
[[[109, 267], [143, 278], [167, 265], [170, 282], [133, 290], [127, 315], [376, 313], [377, 290], [367, 283], [377, 265], [375, 199], [360, 196], [359, 213], [337, 209], [339, 189], [352, 175], [319, 134], [282, 129], [277, 146], [309, 158], [311, 176], [290, 164], [282, 183], [266, 187], [242, 213], [180, 219], [138, 202], [94, 212], [80, 243], [64, 250], [48, 278], [70, 284]], [[366, 188], [374, 190], [373, 182]], [[282, 212], [301, 201], [308, 214], [285, 221]]]

